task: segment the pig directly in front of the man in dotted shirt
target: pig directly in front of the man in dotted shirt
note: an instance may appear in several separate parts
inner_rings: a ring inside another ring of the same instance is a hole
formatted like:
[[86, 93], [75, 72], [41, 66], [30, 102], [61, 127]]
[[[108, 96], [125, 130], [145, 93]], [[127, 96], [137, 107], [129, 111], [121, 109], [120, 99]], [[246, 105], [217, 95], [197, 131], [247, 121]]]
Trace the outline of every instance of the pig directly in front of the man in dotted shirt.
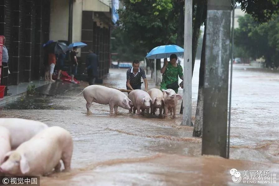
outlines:
[[[129, 93], [128, 98], [132, 101], [133, 103], [133, 112], [137, 110], [137, 114], [141, 113], [144, 115], [144, 110], [149, 110], [150, 107], [152, 106], [152, 99], [150, 95], [143, 91], [143, 90], [133, 90]], [[132, 108], [130, 109], [130, 113], [132, 112]]]

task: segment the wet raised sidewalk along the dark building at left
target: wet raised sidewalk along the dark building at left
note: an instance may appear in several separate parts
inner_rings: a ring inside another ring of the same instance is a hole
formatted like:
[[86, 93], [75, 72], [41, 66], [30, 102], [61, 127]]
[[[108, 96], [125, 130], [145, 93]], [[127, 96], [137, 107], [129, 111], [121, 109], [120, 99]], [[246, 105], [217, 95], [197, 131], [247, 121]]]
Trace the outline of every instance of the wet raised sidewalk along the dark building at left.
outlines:
[[23, 82], [18, 85], [11, 85], [8, 86], [8, 94], [11, 95], [6, 95], [3, 98], [0, 98], [0, 105], [5, 104], [9, 101], [16, 100], [17, 98], [26, 95], [27, 92], [27, 87], [31, 85], [35, 85], [35, 88], [38, 88], [40, 86], [44, 86], [51, 83], [50, 81], [31, 81], [31, 82]]

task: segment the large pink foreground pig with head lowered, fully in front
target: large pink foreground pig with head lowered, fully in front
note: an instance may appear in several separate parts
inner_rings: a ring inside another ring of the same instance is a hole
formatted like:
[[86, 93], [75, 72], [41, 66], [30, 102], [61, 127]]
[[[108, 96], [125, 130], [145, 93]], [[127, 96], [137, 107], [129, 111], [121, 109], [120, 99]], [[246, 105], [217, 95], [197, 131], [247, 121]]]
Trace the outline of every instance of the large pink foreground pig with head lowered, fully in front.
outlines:
[[0, 172], [17, 176], [40, 176], [60, 171], [62, 159], [66, 171], [70, 170], [73, 152], [71, 134], [61, 127], [41, 131], [16, 150], [6, 154]]

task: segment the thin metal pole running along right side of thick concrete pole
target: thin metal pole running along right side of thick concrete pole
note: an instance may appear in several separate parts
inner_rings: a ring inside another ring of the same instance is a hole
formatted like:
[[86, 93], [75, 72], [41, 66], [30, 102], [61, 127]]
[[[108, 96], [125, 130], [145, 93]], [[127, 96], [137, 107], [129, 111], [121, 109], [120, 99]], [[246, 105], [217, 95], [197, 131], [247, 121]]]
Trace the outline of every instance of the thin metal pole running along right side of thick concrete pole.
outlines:
[[228, 147], [227, 147], [227, 158], [229, 158], [229, 136], [230, 136], [230, 114], [231, 114], [231, 103], [232, 103], [232, 79], [233, 79], [233, 59], [234, 59], [234, 6], [235, 0], [233, 0], [233, 24], [232, 24], [232, 48], [231, 48], [231, 58], [230, 58], [230, 82], [229, 82], [229, 127], [228, 127]]

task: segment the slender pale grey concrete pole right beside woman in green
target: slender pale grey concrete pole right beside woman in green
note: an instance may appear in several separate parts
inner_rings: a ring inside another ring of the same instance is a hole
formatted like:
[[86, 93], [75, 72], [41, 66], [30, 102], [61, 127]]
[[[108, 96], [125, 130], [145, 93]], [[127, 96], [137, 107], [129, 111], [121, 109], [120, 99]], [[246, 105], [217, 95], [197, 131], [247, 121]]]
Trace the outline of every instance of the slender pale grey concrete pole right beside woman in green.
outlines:
[[185, 0], [183, 118], [181, 125], [192, 126], [192, 0]]

